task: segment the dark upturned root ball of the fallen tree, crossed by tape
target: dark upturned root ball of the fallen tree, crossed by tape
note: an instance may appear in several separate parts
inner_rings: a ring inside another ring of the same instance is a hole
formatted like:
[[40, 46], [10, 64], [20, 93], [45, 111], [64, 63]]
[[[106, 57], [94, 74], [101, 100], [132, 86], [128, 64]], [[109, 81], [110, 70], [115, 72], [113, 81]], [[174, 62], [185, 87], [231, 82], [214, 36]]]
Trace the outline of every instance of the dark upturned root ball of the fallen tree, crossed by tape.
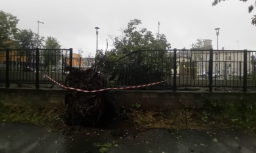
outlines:
[[[98, 67], [79, 70], [68, 67], [66, 86], [82, 90], [98, 90], [106, 87], [106, 80]], [[104, 127], [115, 115], [115, 106], [108, 100], [106, 92], [78, 92], [66, 90], [66, 112], [64, 121], [68, 125]]]

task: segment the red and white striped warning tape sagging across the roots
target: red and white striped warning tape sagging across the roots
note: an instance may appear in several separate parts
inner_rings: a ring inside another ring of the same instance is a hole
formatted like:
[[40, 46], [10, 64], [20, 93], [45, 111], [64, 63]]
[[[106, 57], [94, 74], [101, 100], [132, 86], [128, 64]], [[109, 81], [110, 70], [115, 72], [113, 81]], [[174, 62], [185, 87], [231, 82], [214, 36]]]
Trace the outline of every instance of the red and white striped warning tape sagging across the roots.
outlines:
[[65, 88], [65, 89], [68, 89], [68, 90], [76, 90], [76, 91], [80, 91], [80, 92], [101, 92], [101, 91], [104, 91], [104, 90], [116, 90], [116, 89], [133, 89], [133, 88], [138, 88], [138, 87], [146, 87], [146, 86], [153, 86], [155, 84], [159, 84], [159, 83], [163, 83], [165, 81], [160, 81], [160, 82], [157, 82], [157, 83], [149, 83], [149, 84], [143, 84], [143, 85], [140, 85], [140, 86], [131, 86], [131, 87], [110, 87], [110, 88], [105, 88], [105, 89], [99, 89], [99, 90], [91, 90], [91, 91], [88, 91], [88, 90], [82, 90], [82, 89], [76, 89], [76, 88], [73, 88], [73, 87], [66, 87], [66, 86], [63, 86], [62, 84], [58, 83], [57, 81], [53, 80], [52, 78], [50, 78], [48, 75], [44, 75], [43, 77], [47, 77], [49, 78], [49, 80], [51, 81], [54, 81], [54, 83], [58, 84], [59, 86]]

